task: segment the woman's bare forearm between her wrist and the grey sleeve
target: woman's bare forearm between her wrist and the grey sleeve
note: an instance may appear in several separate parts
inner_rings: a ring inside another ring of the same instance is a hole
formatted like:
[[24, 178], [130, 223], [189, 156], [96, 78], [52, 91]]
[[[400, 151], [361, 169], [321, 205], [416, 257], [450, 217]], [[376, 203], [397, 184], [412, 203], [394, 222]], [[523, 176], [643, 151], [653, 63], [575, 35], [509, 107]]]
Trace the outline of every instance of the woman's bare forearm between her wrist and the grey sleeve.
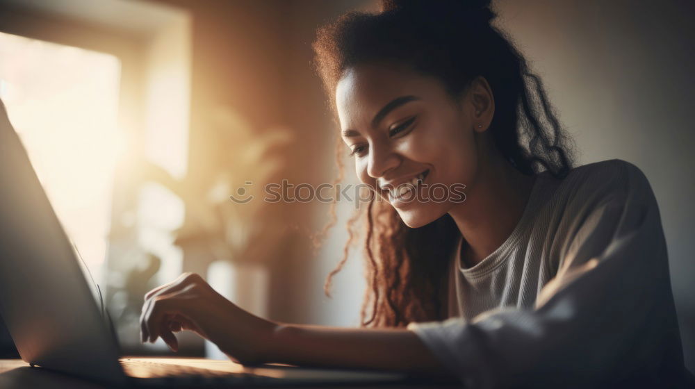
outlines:
[[450, 376], [420, 338], [407, 329], [277, 324], [268, 345], [265, 362]]

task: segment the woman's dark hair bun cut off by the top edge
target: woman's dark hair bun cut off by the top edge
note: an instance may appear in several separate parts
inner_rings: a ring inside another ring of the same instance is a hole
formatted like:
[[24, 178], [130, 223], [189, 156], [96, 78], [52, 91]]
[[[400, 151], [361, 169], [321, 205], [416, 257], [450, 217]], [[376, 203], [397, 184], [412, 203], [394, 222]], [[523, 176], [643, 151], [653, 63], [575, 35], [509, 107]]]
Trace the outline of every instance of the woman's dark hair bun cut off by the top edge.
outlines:
[[496, 15], [490, 0], [381, 0], [382, 13], [454, 16], [489, 23]]

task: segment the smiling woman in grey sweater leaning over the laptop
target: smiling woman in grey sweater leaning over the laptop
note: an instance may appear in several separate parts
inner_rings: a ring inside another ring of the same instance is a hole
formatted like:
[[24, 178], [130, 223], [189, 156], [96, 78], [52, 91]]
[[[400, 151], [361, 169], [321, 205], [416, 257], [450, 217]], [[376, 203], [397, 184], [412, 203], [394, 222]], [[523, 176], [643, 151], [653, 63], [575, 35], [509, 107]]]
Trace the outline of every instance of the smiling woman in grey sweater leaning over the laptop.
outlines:
[[341, 138], [376, 192], [363, 328], [263, 320], [184, 274], [145, 297], [142, 340], [175, 350], [174, 332], [188, 329], [243, 363], [472, 387], [676, 383], [682, 349], [651, 187], [623, 160], [571, 166], [539, 78], [495, 16], [483, 0], [391, 0], [318, 31]]

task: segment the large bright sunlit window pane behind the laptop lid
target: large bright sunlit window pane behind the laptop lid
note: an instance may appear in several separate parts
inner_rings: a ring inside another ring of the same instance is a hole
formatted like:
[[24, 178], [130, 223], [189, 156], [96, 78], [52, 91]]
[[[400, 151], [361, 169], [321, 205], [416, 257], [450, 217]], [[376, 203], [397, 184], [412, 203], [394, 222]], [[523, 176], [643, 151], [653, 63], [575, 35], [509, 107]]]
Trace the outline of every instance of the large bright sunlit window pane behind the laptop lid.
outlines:
[[0, 33], [0, 98], [68, 235], [103, 281], [122, 139], [120, 60]]

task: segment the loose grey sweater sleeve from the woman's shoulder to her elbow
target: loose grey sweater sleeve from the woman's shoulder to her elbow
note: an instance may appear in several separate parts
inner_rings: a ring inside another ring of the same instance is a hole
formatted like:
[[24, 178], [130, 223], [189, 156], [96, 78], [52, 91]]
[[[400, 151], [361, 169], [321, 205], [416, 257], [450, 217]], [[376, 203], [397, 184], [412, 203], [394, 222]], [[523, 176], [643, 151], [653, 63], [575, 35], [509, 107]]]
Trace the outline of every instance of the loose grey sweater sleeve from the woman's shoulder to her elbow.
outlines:
[[408, 329], [473, 388], [596, 387], [637, 375], [657, 383], [664, 361], [682, 366], [657, 203], [635, 165], [622, 170], [623, 187], [577, 216], [559, 270], [534, 309]]

